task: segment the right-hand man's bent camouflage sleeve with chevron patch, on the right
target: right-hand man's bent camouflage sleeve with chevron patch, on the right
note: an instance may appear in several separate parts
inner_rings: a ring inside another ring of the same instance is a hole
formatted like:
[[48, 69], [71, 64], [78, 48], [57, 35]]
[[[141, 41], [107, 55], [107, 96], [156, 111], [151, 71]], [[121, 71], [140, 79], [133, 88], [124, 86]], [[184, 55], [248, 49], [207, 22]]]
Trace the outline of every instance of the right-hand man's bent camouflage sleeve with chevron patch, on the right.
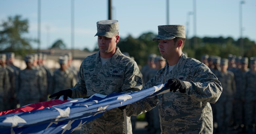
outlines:
[[193, 70], [195, 70], [193, 81], [183, 81], [186, 85], [185, 94], [198, 101], [215, 103], [222, 93], [222, 86], [218, 78], [202, 64]]

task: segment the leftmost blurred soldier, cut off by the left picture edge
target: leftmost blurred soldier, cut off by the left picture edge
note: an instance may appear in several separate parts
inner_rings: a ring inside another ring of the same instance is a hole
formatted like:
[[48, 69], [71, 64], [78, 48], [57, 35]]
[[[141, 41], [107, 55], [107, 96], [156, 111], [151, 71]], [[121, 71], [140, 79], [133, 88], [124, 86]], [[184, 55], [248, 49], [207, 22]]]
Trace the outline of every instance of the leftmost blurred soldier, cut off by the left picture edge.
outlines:
[[[2, 62], [2, 58], [0, 58], [0, 63]], [[8, 75], [8, 70], [2, 66], [0, 66], [0, 111], [10, 110], [7, 109], [6, 105], [8, 105], [8, 95], [10, 93], [10, 79]]]

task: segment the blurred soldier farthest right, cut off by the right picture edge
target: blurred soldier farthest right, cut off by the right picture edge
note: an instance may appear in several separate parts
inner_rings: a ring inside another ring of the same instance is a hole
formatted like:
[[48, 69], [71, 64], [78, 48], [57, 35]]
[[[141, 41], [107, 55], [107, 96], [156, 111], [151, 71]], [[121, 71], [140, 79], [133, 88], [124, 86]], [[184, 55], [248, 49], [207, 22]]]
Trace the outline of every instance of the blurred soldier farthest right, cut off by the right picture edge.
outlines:
[[[250, 71], [246, 73], [245, 88], [245, 125], [247, 133], [252, 133], [256, 123], [256, 58], [250, 58]], [[253, 122], [254, 121], [254, 122]], [[255, 133], [255, 132], [254, 132]]]

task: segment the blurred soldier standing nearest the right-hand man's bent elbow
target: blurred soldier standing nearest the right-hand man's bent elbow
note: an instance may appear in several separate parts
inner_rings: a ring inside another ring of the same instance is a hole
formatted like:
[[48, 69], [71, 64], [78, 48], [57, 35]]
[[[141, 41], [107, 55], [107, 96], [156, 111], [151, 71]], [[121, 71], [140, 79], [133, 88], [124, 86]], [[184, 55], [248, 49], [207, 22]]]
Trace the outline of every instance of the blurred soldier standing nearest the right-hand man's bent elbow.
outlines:
[[219, 100], [215, 103], [217, 132], [226, 133], [232, 125], [233, 98], [236, 90], [234, 74], [227, 70], [228, 59], [221, 59], [221, 71], [216, 72], [216, 77], [221, 82], [223, 91]]

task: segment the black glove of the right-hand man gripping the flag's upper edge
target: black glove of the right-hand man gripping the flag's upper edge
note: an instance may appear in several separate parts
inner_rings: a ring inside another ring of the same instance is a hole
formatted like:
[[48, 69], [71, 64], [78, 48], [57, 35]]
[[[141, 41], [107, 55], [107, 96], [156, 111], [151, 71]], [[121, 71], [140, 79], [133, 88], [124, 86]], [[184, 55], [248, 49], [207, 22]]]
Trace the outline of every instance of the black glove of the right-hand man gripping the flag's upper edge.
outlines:
[[173, 91], [174, 93], [176, 92], [177, 89], [179, 89], [181, 93], [185, 93], [186, 91], [185, 83], [175, 78], [169, 79], [168, 82], [164, 85], [164, 87], [170, 88], [170, 92]]

